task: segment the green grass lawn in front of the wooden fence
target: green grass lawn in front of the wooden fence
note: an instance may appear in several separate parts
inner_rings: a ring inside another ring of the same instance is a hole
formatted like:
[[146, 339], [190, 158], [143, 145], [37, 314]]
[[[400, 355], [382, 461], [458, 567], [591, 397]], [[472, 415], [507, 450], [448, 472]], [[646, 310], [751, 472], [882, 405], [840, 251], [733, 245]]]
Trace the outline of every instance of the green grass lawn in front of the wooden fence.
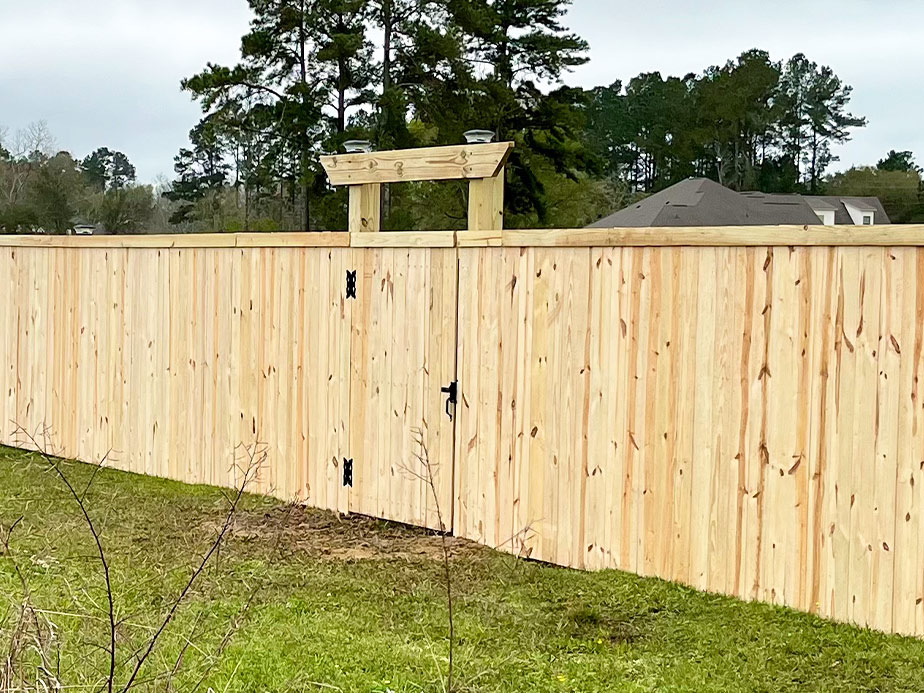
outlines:
[[[77, 485], [93, 471], [64, 469]], [[208, 549], [227, 503], [217, 489], [104, 470], [88, 505], [112, 564], [124, 682], [133, 650]], [[0, 448], [0, 533], [20, 516], [13, 555], [54, 624], [62, 676], [94, 690], [108, 624], [93, 539], [40, 457]], [[911, 638], [454, 546], [459, 691], [924, 690], [924, 642]], [[202, 680], [203, 691], [440, 691], [439, 555], [439, 538], [425, 532], [246, 497], [137, 690], [187, 691]], [[4, 656], [21, 602], [13, 562], [0, 556]], [[172, 683], [157, 678], [181, 651]]]

